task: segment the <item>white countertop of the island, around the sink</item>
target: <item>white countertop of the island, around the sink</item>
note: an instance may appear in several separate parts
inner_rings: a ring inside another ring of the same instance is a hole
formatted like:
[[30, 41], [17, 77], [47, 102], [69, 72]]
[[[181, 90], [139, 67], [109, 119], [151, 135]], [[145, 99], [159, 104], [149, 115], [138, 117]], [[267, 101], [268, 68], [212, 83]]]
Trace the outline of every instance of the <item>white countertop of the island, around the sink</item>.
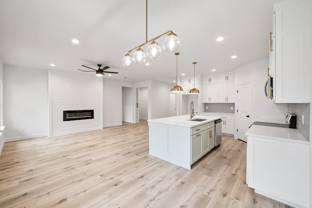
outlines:
[[[205, 121], [192, 121], [196, 118], [202, 118], [207, 119]], [[172, 116], [172, 117], [165, 117], [165, 118], [156, 118], [152, 120], [147, 120], [149, 123], [161, 123], [161, 124], [169, 124], [169, 125], [175, 125], [175, 126], [183, 126], [183, 127], [190, 127], [193, 128], [195, 126], [200, 126], [212, 121], [215, 121], [217, 119], [220, 119], [221, 117], [216, 116], [206, 116], [206, 115], [195, 115], [195, 117], [190, 120], [190, 115], [178, 115], [178, 116]]]

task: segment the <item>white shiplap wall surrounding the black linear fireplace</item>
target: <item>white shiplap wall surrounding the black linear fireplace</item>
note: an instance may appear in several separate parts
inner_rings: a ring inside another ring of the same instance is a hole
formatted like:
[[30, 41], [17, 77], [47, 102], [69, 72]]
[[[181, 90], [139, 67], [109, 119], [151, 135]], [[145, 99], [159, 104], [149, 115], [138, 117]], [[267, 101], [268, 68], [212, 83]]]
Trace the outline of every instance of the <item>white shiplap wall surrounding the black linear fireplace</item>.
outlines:
[[[103, 78], [95, 73], [49, 72], [49, 136], [102, 129]], [[63, 111], [94, 110], [94, 119], [63, 121]]]

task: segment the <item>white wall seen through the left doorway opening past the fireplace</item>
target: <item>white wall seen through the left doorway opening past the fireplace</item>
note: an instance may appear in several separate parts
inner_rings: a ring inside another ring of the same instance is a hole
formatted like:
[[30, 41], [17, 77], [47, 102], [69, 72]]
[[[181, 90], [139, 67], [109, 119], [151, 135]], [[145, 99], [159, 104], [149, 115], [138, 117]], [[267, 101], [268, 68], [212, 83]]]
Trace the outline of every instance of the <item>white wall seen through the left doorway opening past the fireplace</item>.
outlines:
[[122, 121], [133, 123], [133, 87], [122, 87]]

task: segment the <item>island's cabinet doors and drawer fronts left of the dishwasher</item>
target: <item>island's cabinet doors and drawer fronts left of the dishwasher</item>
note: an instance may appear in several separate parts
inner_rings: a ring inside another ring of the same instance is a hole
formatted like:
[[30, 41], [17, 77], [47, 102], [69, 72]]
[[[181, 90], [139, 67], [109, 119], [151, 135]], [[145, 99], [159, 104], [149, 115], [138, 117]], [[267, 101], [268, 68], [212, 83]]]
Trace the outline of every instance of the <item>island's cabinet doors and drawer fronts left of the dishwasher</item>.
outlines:
[[191, 132], [191, 164], [193, 164], [215, 147], [215, 122], [194, 127]]

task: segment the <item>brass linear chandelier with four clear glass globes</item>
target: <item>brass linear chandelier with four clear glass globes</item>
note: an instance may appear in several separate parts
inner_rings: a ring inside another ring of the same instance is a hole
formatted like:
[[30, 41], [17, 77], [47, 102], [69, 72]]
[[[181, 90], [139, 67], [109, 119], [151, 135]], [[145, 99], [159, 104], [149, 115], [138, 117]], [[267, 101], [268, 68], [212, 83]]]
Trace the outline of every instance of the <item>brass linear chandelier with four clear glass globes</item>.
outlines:
[[[149, 58], [151, 59], [157, 59], [160, 56], [161, 53], [161, 49], [158, 45], [158, 43], [156, 43], [156, 39], [161, 38], [163, 36], [166, 36], [164, 40], [164, 45], [163, 48], [165, 51], [171, 53], [171, 52], [175, 52], [177, 51], [177, 49], [180, 46], [180, 40], [177, 37], [177, 35], [172, 32], [171, 30], [161, 34], [160, 36], [157, 36], [156, 38], [153, 38], [151, 40], [147, 40], [147, 0], [146, 0], [146, 39], [145, 39], [145, 43], [131, 49], [128, 51], [128, 53], [122, 58], [122, 65], [129, 68], [131, 67], [134, 63], [137, 64], [141, 64], [144, 63], [146, 60], [146, 55], [144, 53], [144, 51], [141, 49], [142, 46], [151, 43], [149, 45], [149, 47], [147, 48], [146, 54]], [[132, 51], [136, 51], [133, 55], [133, 57], [131, 57], [130, 53]]]

